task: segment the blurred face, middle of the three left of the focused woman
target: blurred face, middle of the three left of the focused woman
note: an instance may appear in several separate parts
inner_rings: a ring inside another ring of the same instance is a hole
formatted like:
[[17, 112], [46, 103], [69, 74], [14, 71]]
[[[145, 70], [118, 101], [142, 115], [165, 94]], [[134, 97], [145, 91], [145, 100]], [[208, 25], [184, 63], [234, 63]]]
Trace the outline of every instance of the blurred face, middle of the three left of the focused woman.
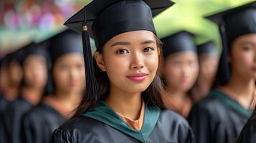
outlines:
[[47, 63], [44, 57], [30, 55], [24, 61], [24, 82], [28, 87], [42, 89], [47, 82]]

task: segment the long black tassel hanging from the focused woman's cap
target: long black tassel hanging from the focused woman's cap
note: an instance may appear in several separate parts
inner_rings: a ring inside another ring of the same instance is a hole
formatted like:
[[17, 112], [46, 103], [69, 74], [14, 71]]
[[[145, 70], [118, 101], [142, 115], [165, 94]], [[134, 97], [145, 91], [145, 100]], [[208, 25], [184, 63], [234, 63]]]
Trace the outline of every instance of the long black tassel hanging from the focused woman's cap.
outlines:
[[[85, 10], [85, 8], [84, 8]], [[82, 23], [82, 46], [83, 55], [85, 59], [85, 74], [86, 74], [86, 96], [87, 101], [98, 100], [98, 87], [95, 77], [95, 69], [93, 66], [93, 54], [90, 47], [89, 32], [86, 26], [86, 10], [85, 10], [85, 21]]]

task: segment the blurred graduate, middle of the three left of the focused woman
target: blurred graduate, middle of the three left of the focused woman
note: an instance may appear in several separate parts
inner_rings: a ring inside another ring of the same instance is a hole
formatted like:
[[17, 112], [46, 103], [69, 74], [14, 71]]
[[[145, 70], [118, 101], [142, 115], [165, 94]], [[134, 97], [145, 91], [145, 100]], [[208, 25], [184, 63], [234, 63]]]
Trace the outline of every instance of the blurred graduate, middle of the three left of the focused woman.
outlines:
[[21, 142], [22, 117], [38, 104], [47, 83], [47, 52], [44, 44], [31, 43], [22, 49], [20, 60], [24, 77], [19, 97], [6, 108], [4, 121], [8, 142]]

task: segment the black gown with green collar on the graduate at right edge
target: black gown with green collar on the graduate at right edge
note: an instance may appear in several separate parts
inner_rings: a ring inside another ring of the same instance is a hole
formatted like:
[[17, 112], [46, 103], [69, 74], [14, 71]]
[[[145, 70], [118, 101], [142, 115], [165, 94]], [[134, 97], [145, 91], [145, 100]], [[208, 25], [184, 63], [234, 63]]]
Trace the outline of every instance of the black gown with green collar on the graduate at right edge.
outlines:
[[236, 142], [252, 110], [243, 108], [227, 94], [214, 89], [196, 103], [189, 114], [189, 124], [199, 143]]

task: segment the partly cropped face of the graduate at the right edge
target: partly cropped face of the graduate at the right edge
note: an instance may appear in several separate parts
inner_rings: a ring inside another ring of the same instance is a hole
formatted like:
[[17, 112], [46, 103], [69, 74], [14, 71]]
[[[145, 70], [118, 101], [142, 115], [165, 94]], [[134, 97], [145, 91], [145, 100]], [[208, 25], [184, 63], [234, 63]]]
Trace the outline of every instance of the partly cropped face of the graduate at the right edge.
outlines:
[[230, 54], [232, 74], [242, 79], [256, 78], [256, 34], [238, 37]]

